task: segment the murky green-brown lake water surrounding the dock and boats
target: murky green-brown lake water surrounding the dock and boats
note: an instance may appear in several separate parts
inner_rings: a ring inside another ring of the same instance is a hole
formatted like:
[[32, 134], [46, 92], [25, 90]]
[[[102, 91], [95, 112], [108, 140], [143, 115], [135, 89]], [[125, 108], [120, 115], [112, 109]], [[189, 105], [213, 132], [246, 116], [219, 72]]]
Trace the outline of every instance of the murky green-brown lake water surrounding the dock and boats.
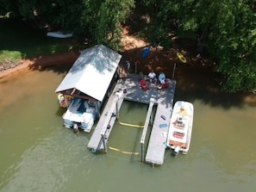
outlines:
[[[190, 152], [172, 158], [167, 150], [165, 163], [152, 167], [127, 154], [140, 153], [141, 128], [116, 122], [112, 150], [94, 154], [91, 133], [63, 127], [54, 90], [65, 75], [66, 68], [49, 68], [0, 79], [1, 192], [255, 191], [255, 107], [227, 107], [228, 99], [216, 104], [208, 92], [191, 97], [177, 87], [175, 100], [195, 108]], [[124, 102], [120, 121], [142, 125], [146, 115], [147, 105]]]

